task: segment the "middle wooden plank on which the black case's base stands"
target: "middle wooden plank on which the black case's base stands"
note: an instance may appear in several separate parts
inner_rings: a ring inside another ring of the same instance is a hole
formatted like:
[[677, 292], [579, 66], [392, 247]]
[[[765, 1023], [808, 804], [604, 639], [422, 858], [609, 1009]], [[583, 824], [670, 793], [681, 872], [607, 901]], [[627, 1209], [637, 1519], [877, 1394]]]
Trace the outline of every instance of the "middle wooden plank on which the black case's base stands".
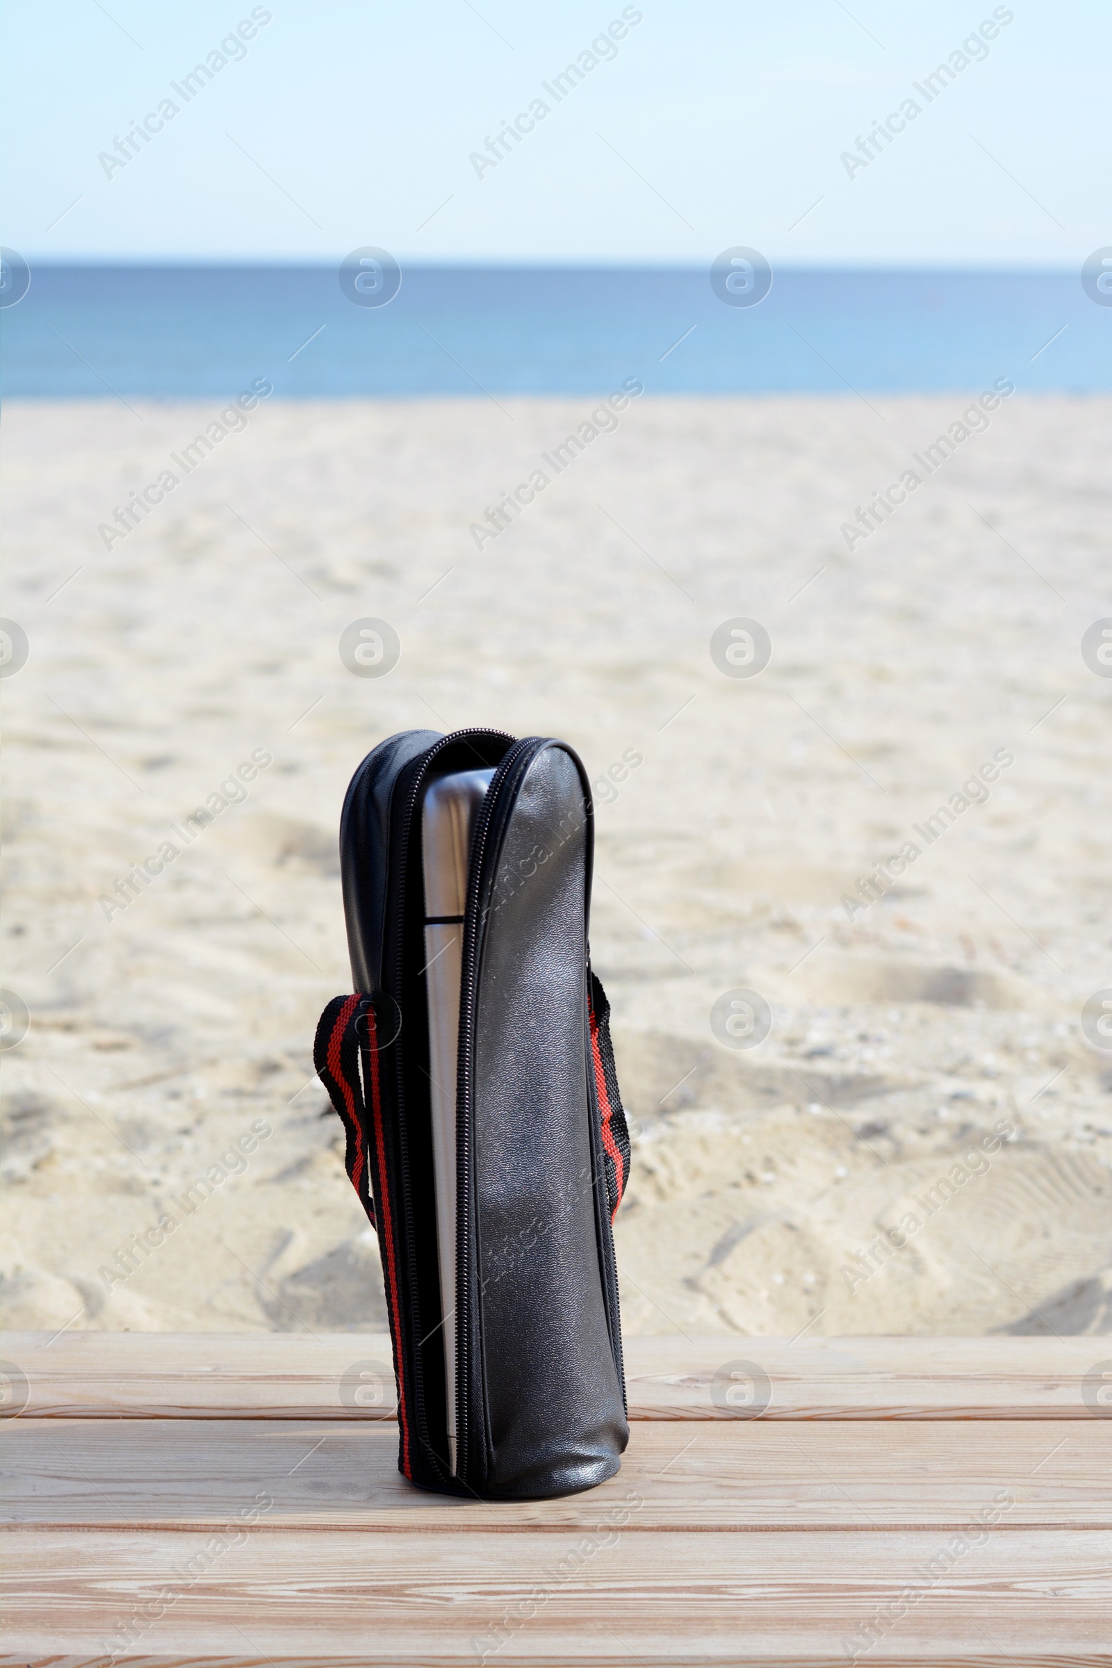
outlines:
[[270, 1526], [538, 1531], [599, 1523], [637, 1500], [630, 1528], [960, 1528], [1000, 1501], [1002, 1530], [1112, 1530], [1112, 1423], [764, 1421], [634, 1426], [622, 1471], [589, 1495], [457, 1501], [397, 1470], [382, 1421], [18, 1419], [0, 1448], [3, 1521], [37, 1528], [220, 1525], [273, 1500]]

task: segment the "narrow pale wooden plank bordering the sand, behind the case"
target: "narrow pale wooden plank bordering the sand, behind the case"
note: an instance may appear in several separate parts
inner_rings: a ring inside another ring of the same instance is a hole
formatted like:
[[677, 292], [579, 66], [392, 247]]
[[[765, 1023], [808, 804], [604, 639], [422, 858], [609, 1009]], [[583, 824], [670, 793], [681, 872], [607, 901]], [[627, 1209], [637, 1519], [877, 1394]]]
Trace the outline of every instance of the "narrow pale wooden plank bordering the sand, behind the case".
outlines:
[[[7, 1333], [0, 1356], [25, 1374], [25, 1411], [38, 1418], [395, 1411], [382, 1334]], [[634, 1419], [737, 1419], [757, 1408], [764, 1419], [1087, 1419], [1090, 1374], [1109, 1358], [1112, 1341], [1100, 1338], [625, 1341]]]

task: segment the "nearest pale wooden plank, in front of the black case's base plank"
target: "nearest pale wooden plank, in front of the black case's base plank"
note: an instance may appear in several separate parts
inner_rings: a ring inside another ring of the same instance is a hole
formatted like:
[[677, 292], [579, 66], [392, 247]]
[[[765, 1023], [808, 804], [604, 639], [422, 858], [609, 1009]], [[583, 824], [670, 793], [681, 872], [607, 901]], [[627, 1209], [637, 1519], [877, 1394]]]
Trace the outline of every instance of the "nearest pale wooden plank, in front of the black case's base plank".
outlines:
[[[242, 1536], [242, 1538], [240, 1538]], [[10, 1533], [5, 1661], [1109, 1668], [1112, 1535]]]

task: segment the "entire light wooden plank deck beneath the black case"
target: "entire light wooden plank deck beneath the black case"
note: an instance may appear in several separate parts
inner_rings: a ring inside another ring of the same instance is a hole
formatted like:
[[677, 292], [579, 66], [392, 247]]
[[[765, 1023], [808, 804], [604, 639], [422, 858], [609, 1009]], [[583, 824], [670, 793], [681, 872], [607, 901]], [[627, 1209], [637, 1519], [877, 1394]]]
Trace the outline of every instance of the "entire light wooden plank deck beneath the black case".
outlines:
[[0, 1663], [1112, 1668], [1112, 1339], [630, 1339], [620, 1475], [522, 1503], [398, 1476], [382, 1338], [0, 1356]]

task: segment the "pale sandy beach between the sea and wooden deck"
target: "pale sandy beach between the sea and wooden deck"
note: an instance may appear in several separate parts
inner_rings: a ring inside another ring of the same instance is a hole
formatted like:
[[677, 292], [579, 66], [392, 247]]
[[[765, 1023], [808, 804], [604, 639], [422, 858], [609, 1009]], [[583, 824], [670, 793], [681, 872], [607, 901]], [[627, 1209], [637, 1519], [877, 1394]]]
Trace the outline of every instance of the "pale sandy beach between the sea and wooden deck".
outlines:
[[[0, 1323], [383, 1323], [310, 1058], [350, 989], [340, 804], [393, 731], [488, 724], [604, 784], [627, 1331], [1110, 1331], [1112, 1053], [1080, 1011], [1112, 986], [1112, 681], [1080, 639], [1112, 614], [1112, 399], [969, 405], [8, 405], [3, 984], [30, 1029]], [[340, 661], [360, 617], [397, 631], [385, 677]], [[759, 676], [712, 657], [739, 617]], [[740, 987], [772, 1016], [752, 1049], [710, 1024]]]

